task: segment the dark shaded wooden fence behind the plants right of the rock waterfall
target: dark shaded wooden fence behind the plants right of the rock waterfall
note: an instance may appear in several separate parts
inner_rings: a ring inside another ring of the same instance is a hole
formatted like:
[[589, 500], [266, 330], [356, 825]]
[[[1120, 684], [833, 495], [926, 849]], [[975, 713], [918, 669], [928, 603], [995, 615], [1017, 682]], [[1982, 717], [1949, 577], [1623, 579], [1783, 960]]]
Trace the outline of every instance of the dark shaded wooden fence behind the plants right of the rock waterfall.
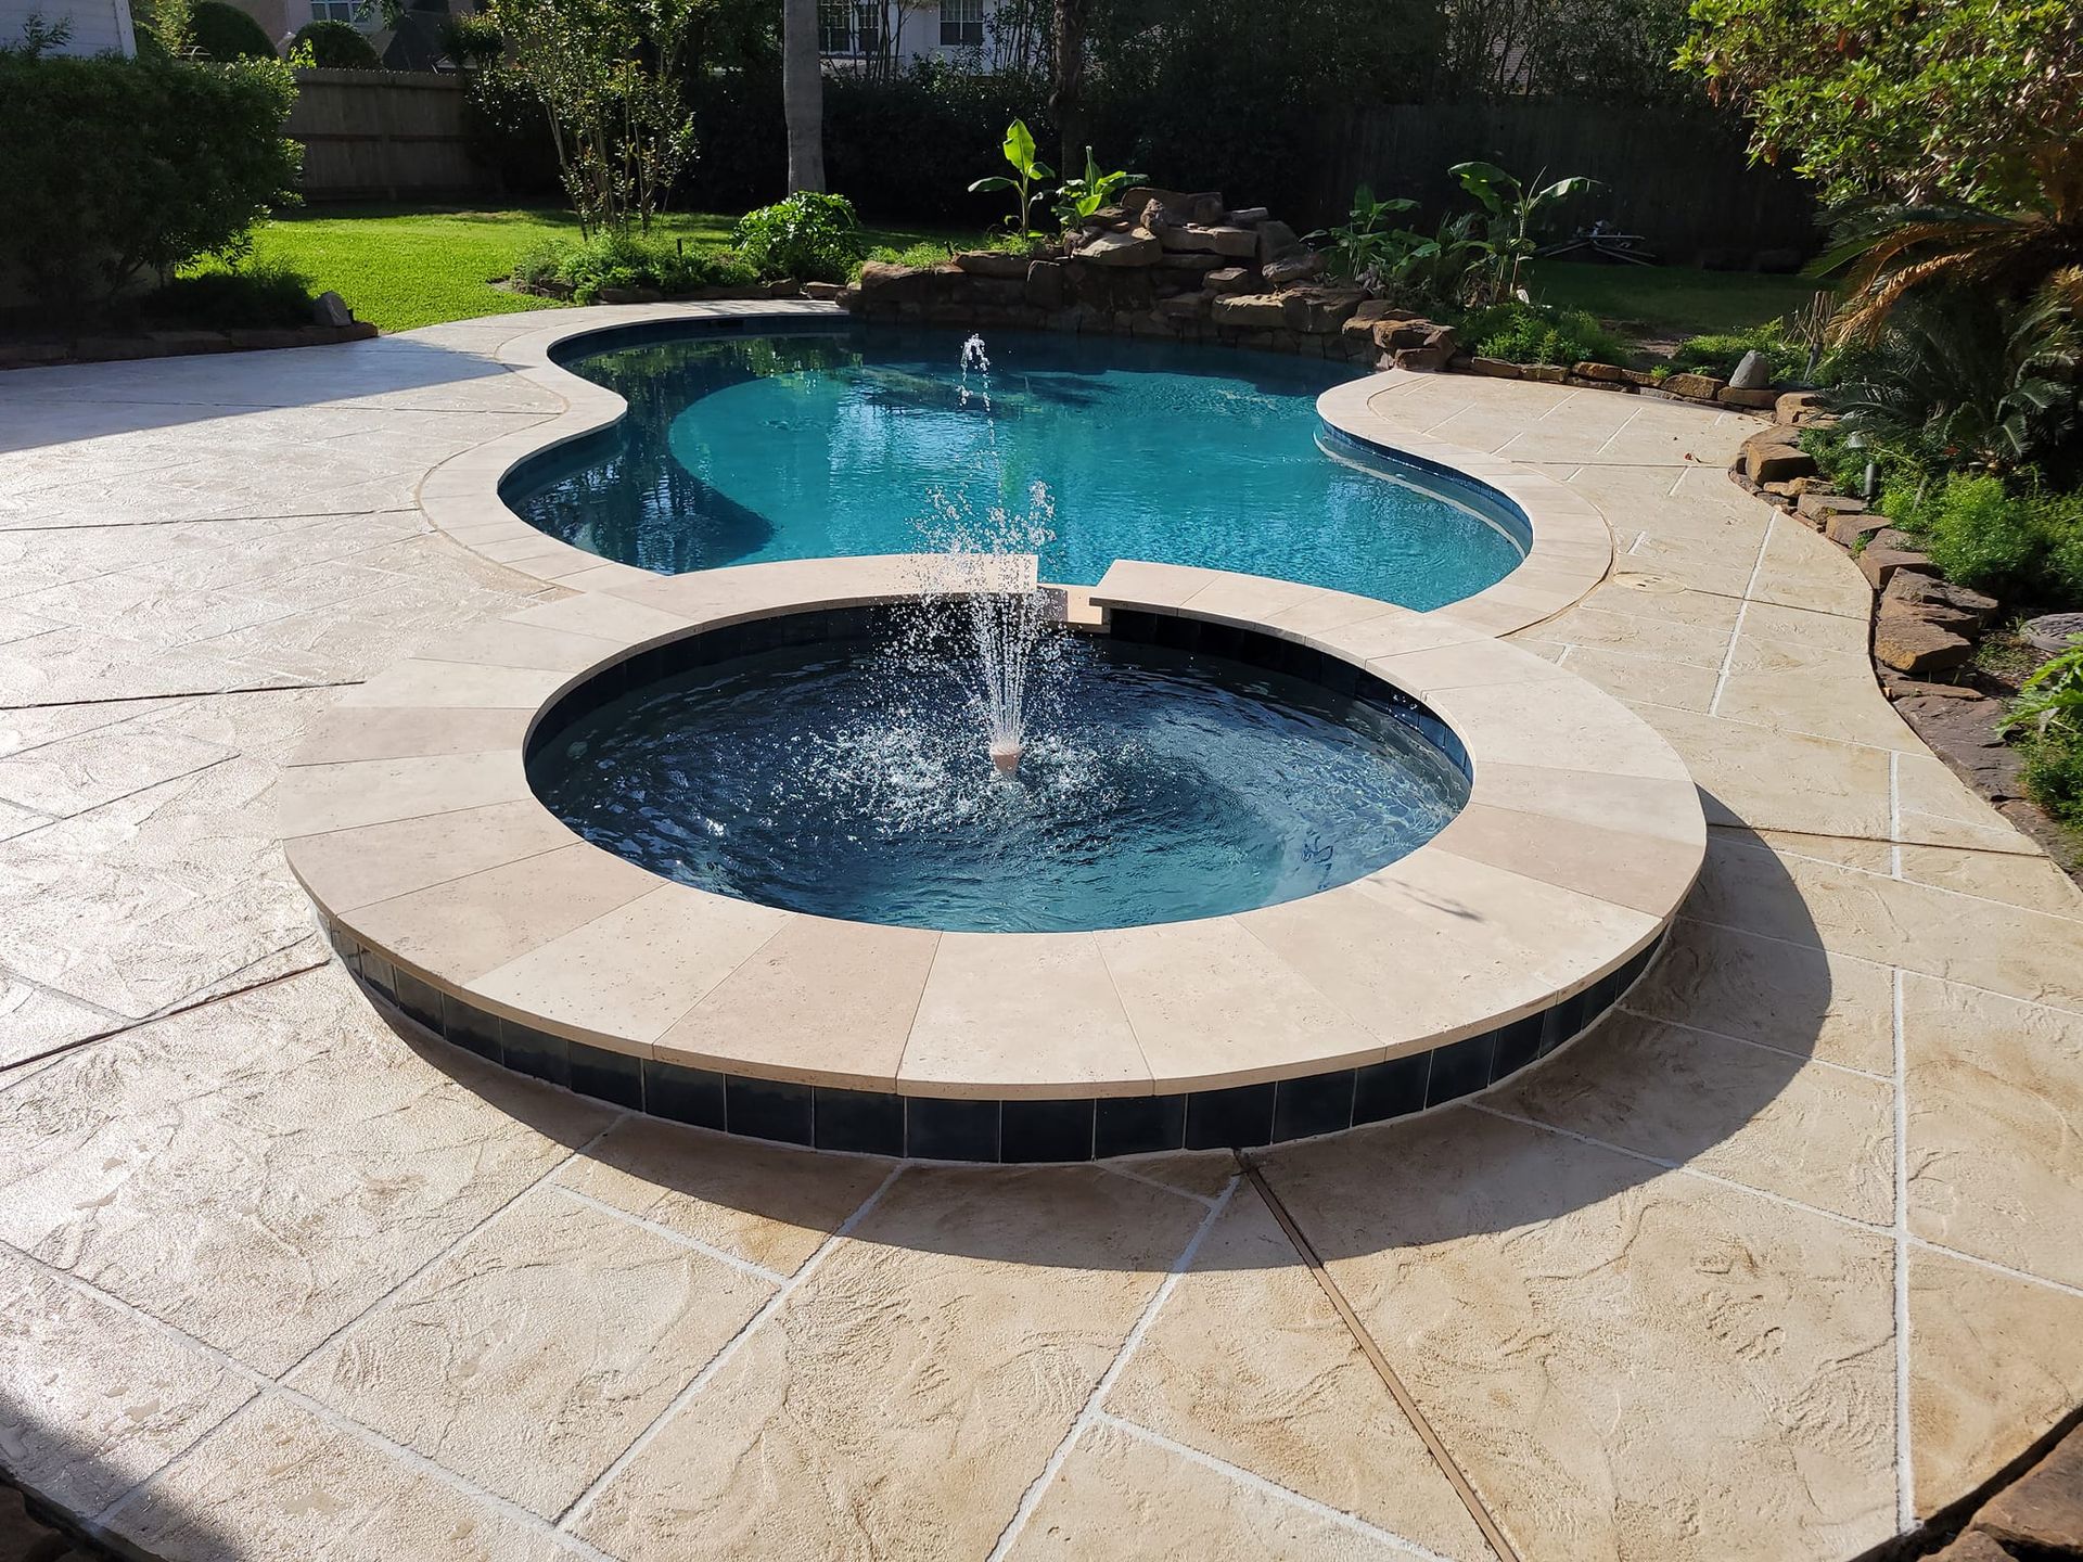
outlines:
[[1341, 215], [1354, 185], [1408, 196], [1427, 212], [1469, 204], [1448, 177], [1481, 158], [1521, 179], [1587, 173], [1604, 190], [1573, 200], [1560, 227], [1604, 217], [1643, 233], [1664, 260], [1791, 271], [1816, 244], [1800, 179], [1754, 169], [1741, 133], [1691, 115], [1575, 102], [1398, 104], [1327, 117], [1312, 200]]

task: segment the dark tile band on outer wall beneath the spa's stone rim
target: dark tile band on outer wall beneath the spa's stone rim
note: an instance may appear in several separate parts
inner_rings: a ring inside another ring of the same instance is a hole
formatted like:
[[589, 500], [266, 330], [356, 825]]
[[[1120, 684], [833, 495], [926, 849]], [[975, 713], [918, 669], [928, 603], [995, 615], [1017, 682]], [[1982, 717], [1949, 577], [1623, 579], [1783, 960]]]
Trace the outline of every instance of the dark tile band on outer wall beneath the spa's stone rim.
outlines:
[[[767, 1143], [910, 1160], [1037, 1164], [1110, 1160], [1164, 1150], [1252, 1150], [1314, 1139], [1466, 1100], [1533, 1066], [1602, 1021], [1664, 948], [1664, 933], [1627, 964], [1546, 1010], [1496, 1031], [1262, 1085], [1073, 1100], [900, 1095], [687, 1068], [498, 1018], [402, 973], [327, 929], [342, 964], [385, 1008], [431, 1035], [521, 1075], [648, 1116]], [[435, 1000], [429, 1004], [429, 996]], [[431, 1012], [433, 1023], [423, 1018]]]

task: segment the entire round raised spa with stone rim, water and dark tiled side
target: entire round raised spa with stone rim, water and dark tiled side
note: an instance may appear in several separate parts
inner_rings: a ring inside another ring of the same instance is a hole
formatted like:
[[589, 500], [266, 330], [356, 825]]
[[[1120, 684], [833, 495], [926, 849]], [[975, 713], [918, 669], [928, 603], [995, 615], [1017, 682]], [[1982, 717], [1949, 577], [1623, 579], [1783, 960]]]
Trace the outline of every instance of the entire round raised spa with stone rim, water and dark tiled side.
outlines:
[[923, 596], [779, 562], [460, 635], [321, 723], [290, 862], [383, 1004], [504, 1068], [983, 1162], [1483, 1091], [1627, 991], [1698, 873], [1662, 739], [1435, 614], [1194, 614], [1154, 564], [1010, 629]]

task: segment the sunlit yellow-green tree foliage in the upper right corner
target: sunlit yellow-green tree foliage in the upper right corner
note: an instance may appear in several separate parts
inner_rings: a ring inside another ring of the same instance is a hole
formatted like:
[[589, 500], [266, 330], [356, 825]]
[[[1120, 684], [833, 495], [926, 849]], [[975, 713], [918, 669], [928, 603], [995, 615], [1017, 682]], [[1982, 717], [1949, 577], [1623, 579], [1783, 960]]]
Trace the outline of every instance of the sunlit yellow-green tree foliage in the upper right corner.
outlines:
[[1831, 202], [2014, 210], [2083, 135], [2075, 0], [1693, 0], [1677, 65]]

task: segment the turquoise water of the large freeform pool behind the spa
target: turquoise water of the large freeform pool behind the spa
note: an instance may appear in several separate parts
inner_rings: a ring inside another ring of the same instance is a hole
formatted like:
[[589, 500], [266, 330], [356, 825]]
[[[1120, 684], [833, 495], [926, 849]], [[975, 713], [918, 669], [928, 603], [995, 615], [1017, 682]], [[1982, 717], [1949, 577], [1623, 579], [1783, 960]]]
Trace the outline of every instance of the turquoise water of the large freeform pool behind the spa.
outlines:
[[981, 517], [1054, 496], [1042, 577], [1116, 558], [1275, 575], [1435, 608], [1510, 573], [1525, 523], [1466, 479], [1339, 444], [1300, 358], [994, 331], [989, 408], [962, 333], [839, 327], [583, 344], [614, 429], [512, 473], [506, 504], [660, 573], [933, 548], [935, 494]]

